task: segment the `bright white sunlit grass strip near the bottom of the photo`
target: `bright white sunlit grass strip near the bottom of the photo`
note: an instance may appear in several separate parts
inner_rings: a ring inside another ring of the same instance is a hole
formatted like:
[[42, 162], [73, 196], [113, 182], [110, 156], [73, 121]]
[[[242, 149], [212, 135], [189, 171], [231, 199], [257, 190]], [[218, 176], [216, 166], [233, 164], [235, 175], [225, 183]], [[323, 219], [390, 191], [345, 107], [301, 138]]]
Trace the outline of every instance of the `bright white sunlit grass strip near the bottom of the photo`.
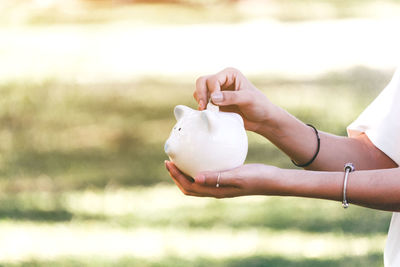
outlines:
[[[29, 258], [48, 260], [57, 257], [104, 256], [142, 259], [181, 259], [196, 257], [226, 258], [264, 255], [298, 258], [340, 258], [377, 254], [385, 235], [368, 238], [326, 233], [293, 231], [272, 232], [266, 229], [188, 229], [135, 228], [110, 229], [99, 224], [1, 224], [0, 261]], [[346, 246], [341, 244], [346, 243]], [[57, 246], [54, 246], [57, 244]]]

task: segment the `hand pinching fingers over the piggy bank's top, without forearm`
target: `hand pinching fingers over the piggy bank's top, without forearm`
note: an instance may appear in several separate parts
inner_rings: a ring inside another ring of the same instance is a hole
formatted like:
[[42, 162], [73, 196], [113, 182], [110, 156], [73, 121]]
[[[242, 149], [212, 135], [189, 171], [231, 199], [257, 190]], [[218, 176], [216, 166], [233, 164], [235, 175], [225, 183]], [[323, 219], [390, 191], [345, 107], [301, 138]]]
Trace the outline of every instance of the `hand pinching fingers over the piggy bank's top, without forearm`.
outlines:
[[263, 124], [271, 123], [277, 110], [260, 90], [234, 68], [198, 78], [193, 96], [199, 104], [199, 110], [204, 110], [211, 98], [222, 111], [241, 115], [245, 128], [254, 132]]

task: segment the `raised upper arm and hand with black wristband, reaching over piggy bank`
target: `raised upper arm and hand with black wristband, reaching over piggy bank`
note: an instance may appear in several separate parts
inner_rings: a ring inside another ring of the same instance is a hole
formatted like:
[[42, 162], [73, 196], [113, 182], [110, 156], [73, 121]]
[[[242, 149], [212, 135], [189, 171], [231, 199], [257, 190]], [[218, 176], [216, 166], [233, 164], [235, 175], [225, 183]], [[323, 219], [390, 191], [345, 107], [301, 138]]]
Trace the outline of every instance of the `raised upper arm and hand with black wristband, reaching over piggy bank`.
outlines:
[[[228, 68], [196, 81], [194, 97], [199, 109], [211, 97], [222, 111], [240, 114], [247, 130], [259, 133], [297, 163], [305, 163], [316, 151], [313, 129], [272, 104], [242, 73]], [[365, 134], [357, 138], [320, 132], [321, 149], [310, 170], [338, 171], [347, 162], [358, 170], [394, 168], [397, 164], [376, 148]]]

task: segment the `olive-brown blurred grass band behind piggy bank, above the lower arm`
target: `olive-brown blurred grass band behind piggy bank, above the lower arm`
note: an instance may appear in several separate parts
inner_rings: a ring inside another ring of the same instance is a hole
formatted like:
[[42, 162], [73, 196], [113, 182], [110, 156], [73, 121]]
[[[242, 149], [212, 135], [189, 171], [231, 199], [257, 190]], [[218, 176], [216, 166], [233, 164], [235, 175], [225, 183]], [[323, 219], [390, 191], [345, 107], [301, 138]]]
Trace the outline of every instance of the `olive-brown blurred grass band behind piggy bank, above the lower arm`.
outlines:
[[[312, 81], [252, 80], [301, 120], [345, 135], [345, 127], [388, 77], [356, 68]], [[172, 110], [177, 104], [195, 106], [192, 87], [184, 80], [162, 79], [100, 86], [56, 81], [0, 85], [1, 188], [63, 191], [165, 182], [163, 144], [175, 123]], [[292, 167], [279, 150], [252, 133], [247, 162]]]

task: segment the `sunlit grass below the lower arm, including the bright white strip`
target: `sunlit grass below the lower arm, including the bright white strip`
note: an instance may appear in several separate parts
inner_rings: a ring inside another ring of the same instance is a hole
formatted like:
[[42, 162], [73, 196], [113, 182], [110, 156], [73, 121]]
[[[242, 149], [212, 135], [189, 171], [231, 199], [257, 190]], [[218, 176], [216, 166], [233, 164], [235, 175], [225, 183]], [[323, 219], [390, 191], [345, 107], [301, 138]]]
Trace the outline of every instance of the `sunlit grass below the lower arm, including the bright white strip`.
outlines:
[[0, 264], [367, 257], [381, 253], [389, 216], [306, 199], [189, 198], [175, 186], [2, 194], [0, 203]]

